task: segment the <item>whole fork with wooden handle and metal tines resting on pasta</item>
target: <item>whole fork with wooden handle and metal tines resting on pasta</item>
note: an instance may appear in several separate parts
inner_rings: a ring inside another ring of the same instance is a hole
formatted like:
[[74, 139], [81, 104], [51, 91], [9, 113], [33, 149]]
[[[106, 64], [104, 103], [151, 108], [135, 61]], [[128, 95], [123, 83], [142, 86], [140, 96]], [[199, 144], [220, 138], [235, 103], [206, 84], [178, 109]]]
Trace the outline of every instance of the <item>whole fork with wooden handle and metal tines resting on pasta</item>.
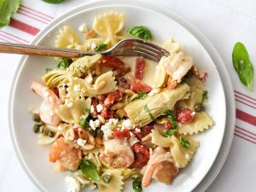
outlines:
[[143, 56], [148, 60], [159, 62], [162, 56], [170, 53], [156, 44], [138, 38], [127, 38], [119, 41], [112, 48], [104, 51], [84, 51], [78, 49], [56, 49], [38, 45], [9, 44], [0, 42], [0, 52], [22, 55], [58, 56], [75, 58], [84, 55], [102, 54], [104, 56]]

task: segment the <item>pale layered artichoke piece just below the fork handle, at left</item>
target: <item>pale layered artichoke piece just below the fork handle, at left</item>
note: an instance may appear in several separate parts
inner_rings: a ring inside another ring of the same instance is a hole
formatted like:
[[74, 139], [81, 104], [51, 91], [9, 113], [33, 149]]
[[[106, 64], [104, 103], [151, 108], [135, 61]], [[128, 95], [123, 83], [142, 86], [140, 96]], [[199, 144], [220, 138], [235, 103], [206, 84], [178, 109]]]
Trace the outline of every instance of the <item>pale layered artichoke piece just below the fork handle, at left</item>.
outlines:
[[67, 84], [69, 77], [81, 77], [90, 67], [94, 67], [96, 61], [101, 59], [102, 55], [84, 56], [74, 61], [67, 70], [55, 69], [46, 73], [43, 80], [49, 88], [57, 87], [61, 84]]

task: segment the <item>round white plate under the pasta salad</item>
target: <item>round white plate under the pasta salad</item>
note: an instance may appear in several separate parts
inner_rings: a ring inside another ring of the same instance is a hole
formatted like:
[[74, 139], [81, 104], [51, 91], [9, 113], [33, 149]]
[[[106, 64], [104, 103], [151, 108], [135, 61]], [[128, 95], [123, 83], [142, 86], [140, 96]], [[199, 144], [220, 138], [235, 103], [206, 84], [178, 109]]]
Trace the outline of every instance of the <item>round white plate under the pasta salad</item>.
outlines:
[[[220, 69], [222, 78], [225, 79], [225, 90], [228, 90], [226, 94], [230, 94], [232, 87], [230, 85], [230, 79], [224, 77], [227, 73], [223, 62], [219, 58], [216, 50], [212, 48], [212, 45], [209, 44], [207, 39], [195, 29], [195, 26], [191, 26], [188, 21], [183, 20], [178, 15], [166, 9], [140, 1], [108, 1], [108, 5], [105, 4], [106, 1], [88, 3], [71, 10], [49, 24], [49, 26], [38, 34], [33, 43], [52, 45], [54, 44], [55, 34], [60, 26], [67, 24], [68, 26], [73, 26], [73, 28], [78, 28], [84, 22], [90, 24], [94, 16], [109, 10], [125, 13], [125, 27], [135, 25], [148, 26], [155, 40], [163, 42], [172, 36], [177, 42], [181, 43], [185, 52], [194, 57], [197, 66], [210, 73], [207, 79], [207, 90], [210, 96], [207, 103], [207, 112], [210, 113], [212, 119], [214, 119], [215, 125], [211, 130], [198, 137], [201, 141], [201, 147], [195, 154], [194, 160], [179, 173], [171, 186], [152, 183], [145, 191], [155, 191], [156, 189], [161, 189], [161, 191], [191, 191], [195, 189], [211, 168], [224, 136], [226, 103], [223, 85], [216, 66]], [[136, 15], [136, 19], [134, 15]], [[190, 32], [193, 31], [194, 34], [197, 33], [196, 37], [200, 38], [204, 46], [207, 46], [207, 50], [209, 51], [209, 49], [211, 49], [211, 55], [213, 55], [212, 58], [215, 61], [215, 65], [211, 56], [197, 38], [179, 23], [187, 28], [189, 27]], [[32, 80], [39, 80], [44, 74], [45, 68], [52, 67], [53, 65], [55, 65], [55, 61], [51, 58], [35, 56], [23, 57], [20, 61], [21, 67], [16, 71], [17, 75], [15, 76], [17, 76], [17, 78], [13, 83], [14, 88], [10, 92], [12, 99], [9, 102], [9, 123], [12, 128], [11, 136], [20, 162], [26, 172], [32, 177], [34, 183], [37, 184], [38, 188], [44, 191], [65, 191], [66, 183], [64, 183], [63, 179], [65, 174], [55, 174], [53, 172], [54, 166], [48, 162], [49, 148], [42, 148], [36, 144], [38, 138], [31, 129], [31, 114], [27, 113], [27, 108], [38, 106], [40, 102], [38, 96], [33, 96], [30, 92], [30, 83]], [[231, 96], [230, 98], [233, 97]], [[234, 101], [234, 99], [231, 101]], [[232, 105], [234, 103], [228, 102], [227, 106], [229, 108], [234, 106]], [[219, 107], [221, 107], [221, 110], [219, 110]], [[229, 118], [234, 117], [234, 108], [231, 109], [232, 115], [229, 116]], [[232, 125], [232, 122], [234, 124], [234, 120], [230, 120], [230, 122], [230, 125]], [[231, 137], [229, 135], [229, 139], [227, 139], [229, 143], [226, 145], [228, 147], [224, 154], [226, 154], [226, 151], [229, 149], [230, 140]], [[224, 159], [225, 156], [226, 155], [224, 155]], [[218, 165], [220, 164], [222, 164], [222, 162], [218, 163]], [[219, 168], [220, 166], [218, 166], [218, 170]], [[216, 169], [212, 172], [215, 172], [214, 174], [212, 173], [213, 176], [207, 176], [209, 177], [207, 182], [199, 185], [199, 187], [202, 186], [201, 189], [205, 189], [210, 183], [209, 180], [212, 180], [212, 178], [216, 176]], [[131, 184], [126, 184], [125, 189], [125, 191], [131, 191]]]

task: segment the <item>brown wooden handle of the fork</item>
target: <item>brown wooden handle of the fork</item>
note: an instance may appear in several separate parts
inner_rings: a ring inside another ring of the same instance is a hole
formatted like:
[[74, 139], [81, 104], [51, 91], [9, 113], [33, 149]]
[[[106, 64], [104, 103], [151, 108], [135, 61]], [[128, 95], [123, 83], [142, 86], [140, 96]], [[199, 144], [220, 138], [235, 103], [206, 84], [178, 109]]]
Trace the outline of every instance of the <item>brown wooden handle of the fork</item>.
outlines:
[[57, 56], [64, 58], [74, 58], [83, 55], [81, 51], [74, 49], [55, 49], [37, 45], [10, 44], [3, 42], [0, 42], [0, 52], [21, 55]]

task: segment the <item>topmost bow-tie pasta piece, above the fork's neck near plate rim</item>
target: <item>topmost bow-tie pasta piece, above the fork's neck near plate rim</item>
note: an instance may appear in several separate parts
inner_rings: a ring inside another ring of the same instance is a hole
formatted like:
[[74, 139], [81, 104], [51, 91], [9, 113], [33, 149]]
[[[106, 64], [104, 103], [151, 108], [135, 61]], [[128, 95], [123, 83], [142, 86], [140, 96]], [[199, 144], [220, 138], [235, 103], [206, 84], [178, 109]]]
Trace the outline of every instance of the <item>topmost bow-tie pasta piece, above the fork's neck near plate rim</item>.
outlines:
[[99, 15], [94, 19], [94, 31], [105, 38], [110, 46], [118, 43], [122, 37], [117, 34], [123, 29], [125, 24], [125, 15], [117, 12], [109, 12], [104, 15]]

